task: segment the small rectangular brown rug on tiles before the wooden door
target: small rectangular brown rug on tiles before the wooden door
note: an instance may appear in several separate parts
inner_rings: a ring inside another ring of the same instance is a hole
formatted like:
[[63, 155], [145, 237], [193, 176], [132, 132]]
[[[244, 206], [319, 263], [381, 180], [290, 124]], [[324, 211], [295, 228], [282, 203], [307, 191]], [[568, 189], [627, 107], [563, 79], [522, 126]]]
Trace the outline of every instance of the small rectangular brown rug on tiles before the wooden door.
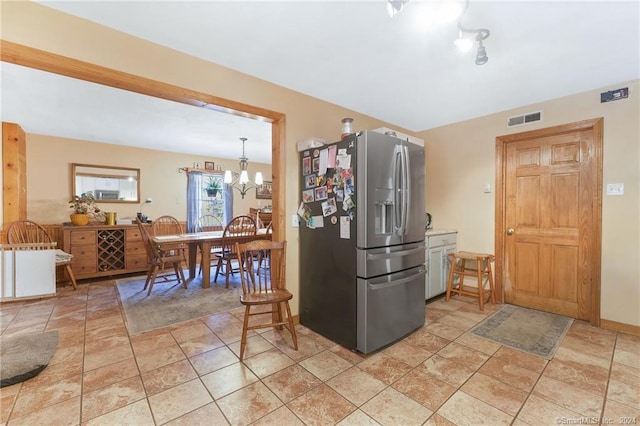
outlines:
[[573, 318], [505, 305], [471, 332], [523, 352], [553, 358]]

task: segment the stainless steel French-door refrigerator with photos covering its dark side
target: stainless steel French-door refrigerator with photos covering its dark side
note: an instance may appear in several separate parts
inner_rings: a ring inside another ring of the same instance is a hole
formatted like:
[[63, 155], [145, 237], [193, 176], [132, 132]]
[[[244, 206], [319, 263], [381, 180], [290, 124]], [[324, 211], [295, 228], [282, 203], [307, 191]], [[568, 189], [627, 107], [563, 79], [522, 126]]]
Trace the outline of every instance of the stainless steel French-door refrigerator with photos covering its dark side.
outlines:
[[424, 324], [424, 162], [370, 131], [301, 153], [302, 325], [369, 353]]

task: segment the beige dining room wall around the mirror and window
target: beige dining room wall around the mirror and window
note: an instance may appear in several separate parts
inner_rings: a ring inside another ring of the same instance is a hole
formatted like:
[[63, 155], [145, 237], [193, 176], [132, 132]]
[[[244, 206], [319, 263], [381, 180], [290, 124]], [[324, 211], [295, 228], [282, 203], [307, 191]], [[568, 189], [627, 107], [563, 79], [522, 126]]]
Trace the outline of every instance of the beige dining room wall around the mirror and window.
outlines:
[[[28, 216], [40, 223], [68, 222], [71, 163], [83, 163], [139, 168], [140, 199], [153, 199], [153, 203], [144, 206], [100, 203], [102, 210], [115, 211], [118, 218], [133, 218], [142, 208], [142, 212], [152, 219], [168, 214], [185, 221], [187, 175], [179, 173], [178, 169], [192, 167], [194, 162], [204, 164], [205, 161], [213, 161], [232, 170], [238, 167], [234, 160], [27, 134]], [[249, 171], [271, 176], [271, 165], [250, 162]], [[270, 200], [256, 200], [255, 190], [249, 191], [244, 200], [234, 190], [234, 215], [248, 214], [250, 207], [261, 208], [268, 204], [271, 204]]]

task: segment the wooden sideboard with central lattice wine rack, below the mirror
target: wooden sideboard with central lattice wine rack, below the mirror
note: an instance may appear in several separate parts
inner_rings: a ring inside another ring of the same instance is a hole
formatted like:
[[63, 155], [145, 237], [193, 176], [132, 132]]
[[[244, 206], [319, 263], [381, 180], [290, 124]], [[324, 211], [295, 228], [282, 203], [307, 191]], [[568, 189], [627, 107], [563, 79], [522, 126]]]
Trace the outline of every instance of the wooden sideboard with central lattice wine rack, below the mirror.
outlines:
[[142, 272], [147, 253], [137, 225], [62, 227], [63, 250], [78, 279]]

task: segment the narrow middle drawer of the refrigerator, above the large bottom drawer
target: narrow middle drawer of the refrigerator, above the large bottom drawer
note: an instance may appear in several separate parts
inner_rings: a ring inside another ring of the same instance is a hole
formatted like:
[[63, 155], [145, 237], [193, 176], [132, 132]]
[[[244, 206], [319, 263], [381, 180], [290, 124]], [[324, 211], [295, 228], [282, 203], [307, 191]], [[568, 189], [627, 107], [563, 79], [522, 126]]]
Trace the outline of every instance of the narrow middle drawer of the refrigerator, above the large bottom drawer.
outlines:
[[357, 249], [358, 277], [371, 278], [420, 266], [424, 264], [425, 248], [424, 242], [420, 241], [368, 250]]

